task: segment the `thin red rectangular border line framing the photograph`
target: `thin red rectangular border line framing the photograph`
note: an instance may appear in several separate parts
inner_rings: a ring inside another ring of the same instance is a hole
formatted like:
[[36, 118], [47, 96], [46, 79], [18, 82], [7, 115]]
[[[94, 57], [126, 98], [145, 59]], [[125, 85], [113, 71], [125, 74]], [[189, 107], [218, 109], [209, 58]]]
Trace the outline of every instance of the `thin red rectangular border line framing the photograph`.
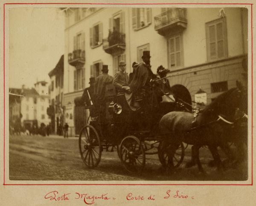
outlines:
[[[40, 5], [40, 4], [60, 4], [60, 5], [73, 5], [73, 4], [79, 4], [79, 5], [250, 5], [251, 6], [251, 35], [252, 35], [252, 74], [251, 74], [251, 81], [252, 81], [252, 182], [251, 184], [6, 184], [5, 183], [5, 5]], [[224, 186], [252, 186], [253, 185], [253, 4], [252, 3], [4, 3], [3, 4], [3, 185], [8, 186], [24, 186], [24, 185], [201, 185], [201, 186], [207, 186], [207, 185], [224, 185]]]

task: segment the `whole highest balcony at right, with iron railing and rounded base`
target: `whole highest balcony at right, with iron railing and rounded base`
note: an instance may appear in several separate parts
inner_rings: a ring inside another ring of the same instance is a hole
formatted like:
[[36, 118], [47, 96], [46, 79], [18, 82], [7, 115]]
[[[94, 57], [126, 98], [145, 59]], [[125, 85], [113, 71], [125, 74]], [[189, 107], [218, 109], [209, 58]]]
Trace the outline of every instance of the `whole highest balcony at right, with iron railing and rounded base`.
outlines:
[[163, 36], [168, 35], [174, 29], [185, 29], [187, 25], [186, 8], [170, 8], [154, 17], [154, 24], [154, 29]]

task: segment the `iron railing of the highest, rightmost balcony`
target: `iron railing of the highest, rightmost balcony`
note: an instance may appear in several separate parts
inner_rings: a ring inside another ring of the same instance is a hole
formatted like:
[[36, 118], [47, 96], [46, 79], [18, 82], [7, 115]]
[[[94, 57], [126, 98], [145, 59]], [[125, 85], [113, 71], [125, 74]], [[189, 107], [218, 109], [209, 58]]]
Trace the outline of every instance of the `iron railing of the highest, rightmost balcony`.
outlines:
[[160, 15], [154, 17], [154, 28], [158, 30], [167, 25], [172, 25], [177, 22], [187, 23], [186, 8], [168, 8]]

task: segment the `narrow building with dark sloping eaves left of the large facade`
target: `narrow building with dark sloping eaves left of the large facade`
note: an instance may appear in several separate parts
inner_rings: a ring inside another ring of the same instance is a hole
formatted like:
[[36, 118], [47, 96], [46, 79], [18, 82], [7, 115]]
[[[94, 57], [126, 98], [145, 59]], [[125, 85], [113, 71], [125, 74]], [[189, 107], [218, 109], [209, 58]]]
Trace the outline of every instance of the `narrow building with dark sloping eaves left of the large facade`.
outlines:
[[50, 105], [47, 114], [51, 118], [51, 132], [62, 135], [64, 125], [63, 90], [64, 90], [64, 55], [61, 56], [54, 69], [49, 72]]

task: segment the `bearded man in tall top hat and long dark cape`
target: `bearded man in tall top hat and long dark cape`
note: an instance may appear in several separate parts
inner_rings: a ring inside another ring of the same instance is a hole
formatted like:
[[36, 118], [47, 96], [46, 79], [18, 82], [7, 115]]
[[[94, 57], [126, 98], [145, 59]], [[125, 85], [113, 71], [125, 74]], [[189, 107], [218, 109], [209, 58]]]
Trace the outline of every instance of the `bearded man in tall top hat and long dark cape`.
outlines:
[[149, 109], [153, 103], [153, 106], [157, 104], [155, 98], [152, 101], [152, 85], [150, 83], [151, 79], [156, 79], [156, 75], [151, 71], [150, 66], [150, 51], [143, 51], [143, 63], [140, 63], [135, 69], [133, 79], [129, 85], [134, 98], [136, 96], [142, 96], [145, 106]]

